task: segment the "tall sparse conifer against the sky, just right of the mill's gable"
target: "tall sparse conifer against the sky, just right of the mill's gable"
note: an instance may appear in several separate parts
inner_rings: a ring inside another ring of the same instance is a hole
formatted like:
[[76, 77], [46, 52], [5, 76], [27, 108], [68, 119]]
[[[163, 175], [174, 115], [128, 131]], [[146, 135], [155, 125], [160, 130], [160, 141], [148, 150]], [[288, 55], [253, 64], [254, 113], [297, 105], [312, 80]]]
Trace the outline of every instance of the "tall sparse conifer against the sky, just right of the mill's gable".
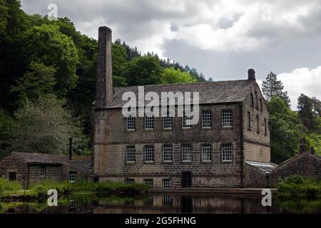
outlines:
[[262, 83], [262, 92], [266, 100], [270, 100], [272, 96], [276, 95], [290, 107], [290, 98], [287, 95], [287, 91], [283, 92], [283, 89], [282, 81], [277, 80], [277, 76], [272, 71]]

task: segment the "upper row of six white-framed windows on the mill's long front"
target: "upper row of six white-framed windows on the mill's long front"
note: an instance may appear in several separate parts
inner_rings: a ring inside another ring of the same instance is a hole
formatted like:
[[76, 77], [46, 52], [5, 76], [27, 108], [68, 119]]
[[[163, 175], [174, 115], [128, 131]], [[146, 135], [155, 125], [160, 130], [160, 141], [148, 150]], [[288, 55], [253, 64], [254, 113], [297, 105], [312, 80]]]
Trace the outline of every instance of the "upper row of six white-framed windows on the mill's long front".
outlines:
[[[184, 115], [182, 118], [182, 128], [192, 128], [190, 125], [190, 120], [192, 116]], [[222, 127], [230, 128], [232, 127], [232, 110], [222, 111]], [[127, 130], [136, 130], [136, 118], [129, 116], [126, 118], [126, 128]], [[154, 117], [146, 116], [144, 118], [144, 128], [145, 130], [154, 129]], [[167, 115], [163, 117], [163, 129], [170, 130], [173, 128], [173, 117]], [[212, 128], [212, 112], [210, 110], [202, 111], [202, 128]]]

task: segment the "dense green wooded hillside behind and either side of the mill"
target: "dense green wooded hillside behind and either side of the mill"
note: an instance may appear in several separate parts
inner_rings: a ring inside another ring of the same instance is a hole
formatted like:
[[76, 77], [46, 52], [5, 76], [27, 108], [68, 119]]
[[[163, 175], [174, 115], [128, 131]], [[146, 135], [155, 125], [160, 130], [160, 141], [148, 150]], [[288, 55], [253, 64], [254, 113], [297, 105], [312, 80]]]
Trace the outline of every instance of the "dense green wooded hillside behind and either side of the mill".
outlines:
[[[17, 0], [0, 0], [0, 158], [9, 152], [73, 152], [91, 148], [97, 41], [68, 18], [26, 14]], [[142, 55], [125, 41], [112, 46], [113, 85], [206, 81], [195, 68]], [[209, 79], [212, 81], [212, 78]], [[320, 100], [301, 95], [298, 111], [270, 73], [263, 93], [271, 113], [272, 161], [297, 154], [301, 138], [321, 153]]]

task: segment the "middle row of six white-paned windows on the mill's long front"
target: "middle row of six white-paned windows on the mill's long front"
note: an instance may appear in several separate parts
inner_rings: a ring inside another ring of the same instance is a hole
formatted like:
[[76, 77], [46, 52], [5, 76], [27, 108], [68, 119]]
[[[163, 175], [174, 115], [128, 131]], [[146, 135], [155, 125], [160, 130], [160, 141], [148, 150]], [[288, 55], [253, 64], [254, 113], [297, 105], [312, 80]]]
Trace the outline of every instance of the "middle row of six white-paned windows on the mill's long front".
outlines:
[[[212, 161], [212, 145], [203, 144], [202, 146], [202, 161], [211, 162]], [[222, 161], [231, 162], [233, 160], [233, 145], [231, 143], [222, 145]], [[192, 162], [192, 146], [183, 145], [182, 146], [182, 161]], [[154, 162], [154, 147], [153, 145], [146, 145], [144, 147], [144, 162]], [[135, 146], [126, 147], [126, 162], [136, 162], [136, 148]], [[163, 145], [163, 162], [173, 162], [173, 146]]]

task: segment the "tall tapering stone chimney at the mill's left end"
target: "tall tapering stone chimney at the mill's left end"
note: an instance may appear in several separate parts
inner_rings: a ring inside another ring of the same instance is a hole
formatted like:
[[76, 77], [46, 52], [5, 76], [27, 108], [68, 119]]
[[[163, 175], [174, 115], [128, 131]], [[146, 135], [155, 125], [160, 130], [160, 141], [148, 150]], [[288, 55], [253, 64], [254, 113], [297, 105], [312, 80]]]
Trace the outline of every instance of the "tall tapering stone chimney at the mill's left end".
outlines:
[[98, 29], [98, 60], [95, 108], [106, 108], [113, 103], [113, 73], [111, 65], [111, 28]]

